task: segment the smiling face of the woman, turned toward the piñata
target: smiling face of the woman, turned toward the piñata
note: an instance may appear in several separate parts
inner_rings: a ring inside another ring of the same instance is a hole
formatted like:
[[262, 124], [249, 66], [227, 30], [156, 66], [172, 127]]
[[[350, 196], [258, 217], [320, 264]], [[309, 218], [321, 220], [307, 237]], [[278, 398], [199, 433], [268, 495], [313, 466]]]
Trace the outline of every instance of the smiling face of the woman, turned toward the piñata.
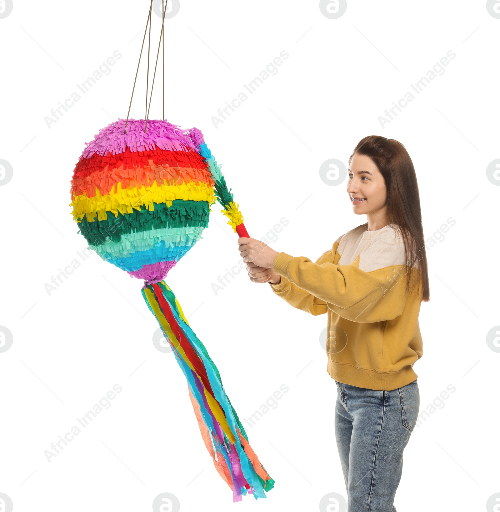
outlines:
[[355, 154], [347, 176], [347, 194], [356, 215], [380, 214], [385, 211], [385, 182], [373, 160]]

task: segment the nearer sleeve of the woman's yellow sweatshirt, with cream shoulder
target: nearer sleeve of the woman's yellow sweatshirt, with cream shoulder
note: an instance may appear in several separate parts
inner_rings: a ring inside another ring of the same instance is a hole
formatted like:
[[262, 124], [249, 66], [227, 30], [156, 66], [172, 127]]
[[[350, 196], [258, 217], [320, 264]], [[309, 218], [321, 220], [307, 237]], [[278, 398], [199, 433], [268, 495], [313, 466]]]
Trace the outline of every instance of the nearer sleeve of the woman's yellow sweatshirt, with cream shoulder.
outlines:
[[403, 263], [403, 249], [401, 240], [395, 240], [394, 232], [389, 231], [374, 237], [350, 265], [331, 263], [333, 250], [316, 263], [280, 252], [273, 270], [291, 283], [283, 285], [289, 303], [295, 300], [321, 313], [329, 308], [353, 322], [382, 322], [401, 315], [406, 303], [408, 268]]

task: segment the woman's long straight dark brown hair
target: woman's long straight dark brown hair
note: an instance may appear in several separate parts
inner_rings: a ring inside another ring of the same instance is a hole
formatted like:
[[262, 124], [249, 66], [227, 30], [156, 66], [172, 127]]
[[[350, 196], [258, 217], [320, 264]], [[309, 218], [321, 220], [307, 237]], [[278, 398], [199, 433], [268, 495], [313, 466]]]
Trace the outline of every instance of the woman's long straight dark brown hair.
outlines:
[[[415, 167], [406, 148], [394, 139], [378, 135], [369, 135], [358, 142], [349, 164], [355, 154], [370, 158], [384, 177], [386, 189], [387, 224], [394, 224], [404, 243], [405, 261], [410, 269], [419, 260], [420, 272], [409, 272], [406, 280], [406, 291], [414, 289], [417, 282], [417, 293], [421, 293], [422, 301], [429, 301], [429, 274], [427, 255], [424, 244], [422, 213], [420, 210], [419, 187]], [[418, 270], [418, 269], [416, 269]]]

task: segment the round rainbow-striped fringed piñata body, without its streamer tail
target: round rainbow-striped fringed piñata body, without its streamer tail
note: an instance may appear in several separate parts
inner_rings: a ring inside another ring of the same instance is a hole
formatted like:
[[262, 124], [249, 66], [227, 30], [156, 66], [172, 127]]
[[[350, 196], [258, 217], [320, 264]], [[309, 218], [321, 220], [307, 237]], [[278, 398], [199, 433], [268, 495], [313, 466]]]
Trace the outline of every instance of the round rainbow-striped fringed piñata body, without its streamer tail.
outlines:
[[129, 120], [125, 134], [124, 120], [100, 130], [76, 164], [71, 197], [90, 248], [153, 282], [202, 238], [215, 183], [199, 130], [153, 120], [144, 133], [145, 123]]

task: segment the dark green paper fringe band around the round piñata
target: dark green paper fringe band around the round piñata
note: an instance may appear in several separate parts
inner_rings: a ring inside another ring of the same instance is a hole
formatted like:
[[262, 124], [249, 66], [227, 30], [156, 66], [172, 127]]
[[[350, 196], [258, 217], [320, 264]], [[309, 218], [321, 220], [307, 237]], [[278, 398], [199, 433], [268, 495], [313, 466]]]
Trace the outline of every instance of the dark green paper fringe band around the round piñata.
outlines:
[[80, 233], [89, 245], [98, 246], [104, 242], [119, 242], [122, 234], [135, 231], [149, 231], [166, 227], [203, 226], [208, 227], [210, 204], [207, 201], [192, 201], [175, 199], [167, 207], [165, 203], [155, 203], [155, 209], [150, 211], [141, 205], [141, 210], [131, 214], [121, 214], [118, 217], [108, 215], [105, 221], [97, 219], [89, 222], [84, 217], [78, 222]]

